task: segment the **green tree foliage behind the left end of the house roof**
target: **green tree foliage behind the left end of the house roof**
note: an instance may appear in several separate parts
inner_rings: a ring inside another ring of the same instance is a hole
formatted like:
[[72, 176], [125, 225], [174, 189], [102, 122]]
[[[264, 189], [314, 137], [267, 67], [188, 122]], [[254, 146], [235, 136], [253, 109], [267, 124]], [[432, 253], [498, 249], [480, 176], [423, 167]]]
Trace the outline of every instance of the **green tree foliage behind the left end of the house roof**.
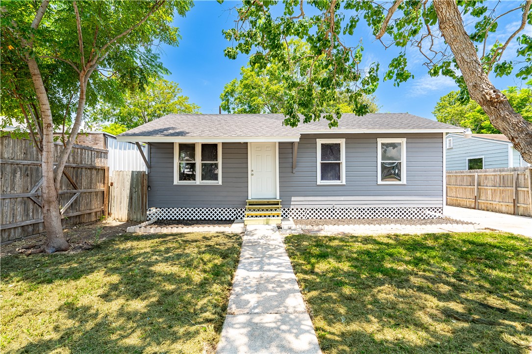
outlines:
[[102, 120], [112, 122], [113, 124], [102, 127], [104, 131], [111, 133], [109, 130], [128, 130], [170, 113], [199, 113], [200, 106], [190, 103], [188, 97], [181, 95], [181, 92], [176, 82], [150, 80], [144, 90], [127, 92], [122, 105], [102, 102], [90, 109], [88, 120], [92, 124], [98, 124]]

